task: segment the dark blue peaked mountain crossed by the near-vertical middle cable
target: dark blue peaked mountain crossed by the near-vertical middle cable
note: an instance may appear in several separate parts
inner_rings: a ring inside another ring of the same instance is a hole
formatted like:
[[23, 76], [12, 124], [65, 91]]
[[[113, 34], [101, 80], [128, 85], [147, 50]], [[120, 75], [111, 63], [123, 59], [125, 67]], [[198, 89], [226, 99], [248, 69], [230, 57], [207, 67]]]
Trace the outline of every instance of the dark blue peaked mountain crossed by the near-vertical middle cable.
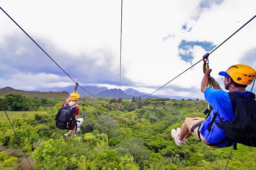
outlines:
[[[97, 97], [119, 98], [119, 89], [114, 88], [114, 89], [110, 89], [110, 90], [105, 90], [105, 91], [102, 91], [102, 92], [96, 94], [96, 96]], [[120, 96], [121, 96], [121, 98], [126, 98], [126, 99], [132, 98], [131, 95], [127, 95], [122, 90], [120, 91]]]

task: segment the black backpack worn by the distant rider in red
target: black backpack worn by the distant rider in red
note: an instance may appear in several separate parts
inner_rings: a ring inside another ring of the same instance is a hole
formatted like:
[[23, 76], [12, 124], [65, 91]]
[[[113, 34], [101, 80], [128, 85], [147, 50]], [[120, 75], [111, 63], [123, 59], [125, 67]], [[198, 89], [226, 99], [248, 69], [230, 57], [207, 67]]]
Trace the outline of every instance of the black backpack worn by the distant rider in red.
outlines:
[[77, 106], [69, 106], [67, 103], [61, 107], [55, 117], [55, 125], [59, 129], [69, 129], [72, 122], [76, 124], [77, 131], [77, 120], [74, 118], [73, 112], [77, 109]]

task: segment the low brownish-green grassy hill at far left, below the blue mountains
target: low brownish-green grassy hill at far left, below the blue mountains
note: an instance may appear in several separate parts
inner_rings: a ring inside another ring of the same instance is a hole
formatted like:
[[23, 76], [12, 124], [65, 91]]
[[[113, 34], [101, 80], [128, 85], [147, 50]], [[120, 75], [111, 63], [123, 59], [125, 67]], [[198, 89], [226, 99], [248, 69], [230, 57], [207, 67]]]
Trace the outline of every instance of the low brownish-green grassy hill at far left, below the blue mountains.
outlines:
[[26, 97], [37, 97], [37, 98], [50, 98], [50, 99], [67, 99], [69, 95], [67, 93], [62, 92], [40, 92], [40, 91], [24, 91], [24, 90], [16, 90], [11, 87], [0, 88], [0, 96], [5, 97], [10, 93], [19, 93]]

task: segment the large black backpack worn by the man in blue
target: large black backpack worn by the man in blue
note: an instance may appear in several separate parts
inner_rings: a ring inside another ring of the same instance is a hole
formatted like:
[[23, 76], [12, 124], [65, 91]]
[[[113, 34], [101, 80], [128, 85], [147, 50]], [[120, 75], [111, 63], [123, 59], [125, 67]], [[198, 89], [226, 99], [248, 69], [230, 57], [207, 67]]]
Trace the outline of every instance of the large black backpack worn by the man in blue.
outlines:
[[[251, 92], [249, 97], [244, 94], [228, 93], [235, 117], [232, 121], [223, 121], [222, 128], [227, 137], [237, 143], [256, 147], [256, 100]], [[238, 99], [236, 101], [236, 99]]]

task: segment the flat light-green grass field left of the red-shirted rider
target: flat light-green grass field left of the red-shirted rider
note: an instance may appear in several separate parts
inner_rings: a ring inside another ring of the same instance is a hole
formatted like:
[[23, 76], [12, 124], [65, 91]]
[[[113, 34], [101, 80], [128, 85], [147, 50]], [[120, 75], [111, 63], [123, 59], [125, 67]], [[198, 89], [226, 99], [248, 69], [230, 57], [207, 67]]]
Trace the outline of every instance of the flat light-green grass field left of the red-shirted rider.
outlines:
[[[28, 118], [36, 113], [46, 113], [47, 111], [7, 111], [10, 120]], [[0, 111], [0, 122], [8, 121], [5, 111]]]

